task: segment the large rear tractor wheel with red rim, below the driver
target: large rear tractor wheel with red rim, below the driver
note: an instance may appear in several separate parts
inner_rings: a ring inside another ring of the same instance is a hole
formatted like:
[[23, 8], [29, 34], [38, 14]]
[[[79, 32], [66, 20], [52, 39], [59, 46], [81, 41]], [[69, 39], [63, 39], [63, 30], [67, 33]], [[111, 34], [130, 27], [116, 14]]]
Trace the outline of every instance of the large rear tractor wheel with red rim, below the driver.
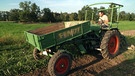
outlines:
[[105, 33], [101, 41], [101, 54], [103, 58], [114, 58], [120, 47], [120, 34], [118, 30], [109, 30]]

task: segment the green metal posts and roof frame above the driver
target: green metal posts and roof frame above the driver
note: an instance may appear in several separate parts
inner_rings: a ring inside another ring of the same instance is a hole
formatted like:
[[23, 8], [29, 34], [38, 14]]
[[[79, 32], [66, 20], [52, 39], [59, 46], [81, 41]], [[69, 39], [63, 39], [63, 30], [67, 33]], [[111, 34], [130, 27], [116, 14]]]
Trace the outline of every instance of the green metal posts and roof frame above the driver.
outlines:
[[[95, 3], [95, 4], [91, 4], [91, 5], [88, 5], [87, 7], [91, 7], [91, 6], [94, 6], [94, 5], [101, 5], [101, 4], [112, 4], [112, 8], [108, 8], [108, 9], [100, 9], [99, 11], [101, 11], [101, 10], [109, 10], [109, 9], [111, 9], [111, 18], [110, 18], [110, 22], [109, 22], [109, 24], [110, 24], [110, 27], [112, 27], [112, 24], [113, 24], [113, 11], [114, 11], [114, 9], [118, 9], [118, 12], [117, 12], [117, 22], [116, 23], [118, 23], [119, 22], [119, 13], [120, 13], [120, 8], [121, 7], [123, 7], [123, 5], [120, 5], [120, 4], [117, 4], [117, 3], [113, 3], [113, 2], [103, 2], [103, 3]], [[114, 7], [115, 6], [115, 7]], [[87, 8], [86, 7], [86, 8]], [[92, 20], [93, 20], [93, 16], [94, 14], [92, 13]], [[87, 20], [87, 10], [86, 10], [86, 13], [85, 13], [85, 20]], [[118, 26], [117, 26], [118, 27]]]

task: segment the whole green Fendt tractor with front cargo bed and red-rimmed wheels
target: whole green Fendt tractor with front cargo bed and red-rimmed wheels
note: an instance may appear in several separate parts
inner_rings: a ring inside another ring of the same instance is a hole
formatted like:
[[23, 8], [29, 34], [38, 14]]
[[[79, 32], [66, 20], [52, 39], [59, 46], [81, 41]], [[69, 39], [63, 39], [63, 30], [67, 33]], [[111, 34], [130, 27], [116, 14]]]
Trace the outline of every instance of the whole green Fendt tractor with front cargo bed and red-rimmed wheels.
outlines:
[[[72, 64], [72, 52], [65, 45], [72, 44], [77, 48], [77, 52], [86, 54], [90, 50], [99, 50], [103, 58], [111, 59], [118, 55], [122, 35], [118, 29], [119, 9], [123, 5], [116, 3], [96, 3], [89, 5], [110, 4], [111, 17], [107, 28], [92, 24], [87, 21], [87, 10], [85, 21], [69, 21], [58, 23], [37, 30], [26, 31], [26, 40], [35, 49], [33, 56], [36, 60], [43, 56], [49, 56], [48, 72], [51, 76], [65, 76], [68, 74]], [[100, 9], [100, 10], [108, 10]], [[113, 11], [118, 10], [117, 21], [113, 23]], [[93, 19], [93, 15], [92, 15]]]

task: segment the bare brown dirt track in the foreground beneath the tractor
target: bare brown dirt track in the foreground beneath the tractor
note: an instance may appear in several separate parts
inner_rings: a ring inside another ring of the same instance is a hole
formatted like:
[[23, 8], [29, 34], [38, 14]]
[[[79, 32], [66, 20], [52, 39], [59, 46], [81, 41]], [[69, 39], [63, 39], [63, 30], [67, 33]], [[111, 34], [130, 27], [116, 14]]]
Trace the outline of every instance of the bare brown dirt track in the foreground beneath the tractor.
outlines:
[[[102, 59], [101, 55], [83, 55], [72, 61], [72, 67], [68, 76], [95, 76], [123, 61], [122, 55], [112, 60]], [[49, 73], [47, 68], [43, 67], [22, 76], [49, 76]]]

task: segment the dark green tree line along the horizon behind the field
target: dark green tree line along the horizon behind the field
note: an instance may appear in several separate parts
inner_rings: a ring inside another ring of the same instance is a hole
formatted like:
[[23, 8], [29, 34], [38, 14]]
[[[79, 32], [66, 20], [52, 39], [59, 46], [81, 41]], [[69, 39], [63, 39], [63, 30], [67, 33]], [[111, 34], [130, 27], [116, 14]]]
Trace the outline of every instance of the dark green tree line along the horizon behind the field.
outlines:
[[[67, 12], [52, 12], [49, 8], [43, 8], [40, 10], [36, 3], [31, 1], [24, 1], [19, 3], [20, 9], [11, 9], [10, 11], [0, 11], [0, 21], [16, 21], [16, 22], [60, 22], [60, 21], [76, 21], [76, 20], [97, 20], [97, 12], [99, 8], [91, 8], [84, 6], [78, 13]], [[110, 5], [111, 7], [111, 5]], [[100, 7], [100, 9], [105, 7]], [[85, 16], [87, 10], [87, 17]], [[109, 11], [108, 11], [109, 13]], [[92, 14], [94, 17], [92, 17]], [[108, 14], [110, 15], [110, 14]], [[117, 10], [114, 10], [113, 19], [116, 20]], [[119, 20], [135, 21], [135, 13], [127, 13], [121, 11]]]

